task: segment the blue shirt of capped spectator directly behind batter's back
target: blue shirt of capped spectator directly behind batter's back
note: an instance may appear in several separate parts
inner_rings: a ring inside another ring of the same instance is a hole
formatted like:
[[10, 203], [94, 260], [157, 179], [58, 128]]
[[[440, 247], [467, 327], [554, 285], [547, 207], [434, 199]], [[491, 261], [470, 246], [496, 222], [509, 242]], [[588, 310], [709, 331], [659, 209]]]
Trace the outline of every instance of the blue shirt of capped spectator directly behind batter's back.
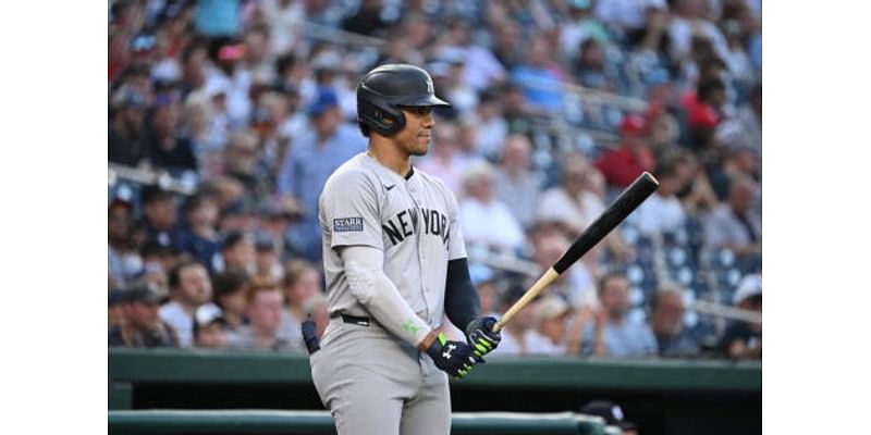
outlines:
[[320, 261], [320, 224], [318, 198], [327, 178], [346, 160], [366, 150], [366, 138], [356, 128], [340, 126], [323, 144], [318, 144], [315, 132], [291, 145], [279, 173], [279, 192], [299, 200], [304, 214], [289, 229], [292, 249], [305, 259]]

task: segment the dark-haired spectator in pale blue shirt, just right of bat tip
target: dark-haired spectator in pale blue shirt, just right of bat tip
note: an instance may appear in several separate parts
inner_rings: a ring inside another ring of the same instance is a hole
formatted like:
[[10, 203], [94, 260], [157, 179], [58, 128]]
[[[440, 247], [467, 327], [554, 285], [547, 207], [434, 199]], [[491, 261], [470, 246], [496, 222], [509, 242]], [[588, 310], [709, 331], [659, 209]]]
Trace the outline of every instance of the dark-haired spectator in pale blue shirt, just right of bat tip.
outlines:
[[660, 187], [638, 207], [638, 229], [647, 236], [674, 234], [684, 227], [687, 214], [677, 192], [688, 179], [687, 161], [680, 157], [661, 161], [653, 170]]

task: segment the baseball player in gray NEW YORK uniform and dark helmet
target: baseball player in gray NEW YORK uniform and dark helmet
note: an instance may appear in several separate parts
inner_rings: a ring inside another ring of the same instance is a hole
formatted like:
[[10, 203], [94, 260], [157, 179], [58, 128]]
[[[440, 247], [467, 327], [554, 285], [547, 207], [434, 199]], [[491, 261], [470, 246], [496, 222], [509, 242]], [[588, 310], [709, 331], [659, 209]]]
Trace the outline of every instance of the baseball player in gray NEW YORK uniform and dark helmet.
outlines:
[[[311, 376], [340, 434], [447, 434], [447, 375], [483, 362], [501, 339], [479, 314], [457, 201], [412, 165], [432, 139], [429, 74], [379, 66], [357, 85], [366, 152], [327, 181], [319, 202], [330, 324]], [[467, 341], [438, 332], [443, 314]]]

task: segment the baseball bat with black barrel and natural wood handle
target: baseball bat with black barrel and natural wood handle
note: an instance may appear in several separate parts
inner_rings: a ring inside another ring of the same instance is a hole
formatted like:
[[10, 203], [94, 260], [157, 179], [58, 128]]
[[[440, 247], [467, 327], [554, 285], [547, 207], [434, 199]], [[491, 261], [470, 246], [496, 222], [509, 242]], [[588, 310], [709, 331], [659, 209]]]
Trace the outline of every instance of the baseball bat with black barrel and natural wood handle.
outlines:
[[512, 318], [514, 318], [518, 311], [529, 304], [536, 296], [541, 294], [541, 291], [560, 277], [560, 274], [565, 272], [566, 269], [584, 257], [593, 246], [605, 238], [605, 236], [623, 222], [629, 213], [635, 211], [645, 199], [657, 191], [659, 185], [660, 183], [653, 175], [650, 175], [650, 173], [645, 172], [639, 175], [638, 178], [636, 178], [635, 182], [602, 212], [602, 215], [578, 236], [578, 239], [572, 244], [572, 247], [569, 247], [568, 250], [565, 251], [565, 253], [563, 253], [563, 256], [560, 257], [560, 259], [556, 260], [526, 293], [524, 293], [524, 296], [514, 302], [514, 304], [508, 308], [508, 311], [502, 314], [502, 319], [493, 325], [493, 331], [501, 331], [506, 323], [511, 322]]

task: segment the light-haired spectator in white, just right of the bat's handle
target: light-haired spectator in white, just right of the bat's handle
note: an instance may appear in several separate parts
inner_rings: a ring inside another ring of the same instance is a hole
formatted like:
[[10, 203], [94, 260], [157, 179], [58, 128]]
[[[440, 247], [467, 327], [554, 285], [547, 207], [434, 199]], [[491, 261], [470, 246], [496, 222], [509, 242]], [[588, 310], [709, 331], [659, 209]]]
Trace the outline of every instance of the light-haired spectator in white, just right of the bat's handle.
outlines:
[[568, 304], [559, 297], [545, 297], [539, 301], [532, 320], [533, 328], [527, 337], [528, 352], [530, 355], [565, 355], [568, 314]]

